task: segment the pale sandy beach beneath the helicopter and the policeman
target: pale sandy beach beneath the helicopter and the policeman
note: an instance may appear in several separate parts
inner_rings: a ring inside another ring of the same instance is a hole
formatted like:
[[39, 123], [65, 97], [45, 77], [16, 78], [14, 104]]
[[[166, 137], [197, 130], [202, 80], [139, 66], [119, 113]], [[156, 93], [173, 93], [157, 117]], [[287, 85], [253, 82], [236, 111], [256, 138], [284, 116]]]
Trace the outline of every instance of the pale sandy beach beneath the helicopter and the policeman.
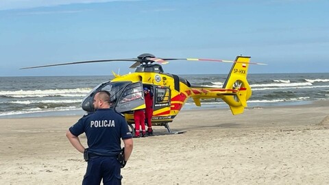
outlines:
[[[329, 184], [329, 102], [182, 110], [173, 131], [134, 138], [123, 184]], [[65, 136], [80, 116], [0, 119], [0, 184], [81, 184], [82, 154]], [[84, 136], [80, 137], [86, 143]], [[84, 144], [86, 145], [86, 144]]]

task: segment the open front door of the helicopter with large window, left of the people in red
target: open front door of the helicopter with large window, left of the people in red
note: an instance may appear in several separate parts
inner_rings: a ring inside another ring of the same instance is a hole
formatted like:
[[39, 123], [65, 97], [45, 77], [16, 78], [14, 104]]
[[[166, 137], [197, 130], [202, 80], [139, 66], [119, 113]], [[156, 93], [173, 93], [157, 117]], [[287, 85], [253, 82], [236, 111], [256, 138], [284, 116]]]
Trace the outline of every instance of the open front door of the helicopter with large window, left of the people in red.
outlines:
[[115, 106], [115, 110], [120, 113], [138, 109], [145, 109], [143, 85], [141, 82], [127, 86]]

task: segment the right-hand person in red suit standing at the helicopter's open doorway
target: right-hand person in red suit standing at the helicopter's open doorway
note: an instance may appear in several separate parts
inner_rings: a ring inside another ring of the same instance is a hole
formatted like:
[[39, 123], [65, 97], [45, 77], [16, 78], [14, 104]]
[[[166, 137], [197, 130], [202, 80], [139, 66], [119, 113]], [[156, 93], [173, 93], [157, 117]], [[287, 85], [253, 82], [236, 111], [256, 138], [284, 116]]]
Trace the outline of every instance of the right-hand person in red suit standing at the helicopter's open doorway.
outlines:
[[148, 88], [144, 88], [145, 98], [145, 119], [147, 120], [147, 134], [153, 135], [151, 119], [153, 116], [153, 93]]

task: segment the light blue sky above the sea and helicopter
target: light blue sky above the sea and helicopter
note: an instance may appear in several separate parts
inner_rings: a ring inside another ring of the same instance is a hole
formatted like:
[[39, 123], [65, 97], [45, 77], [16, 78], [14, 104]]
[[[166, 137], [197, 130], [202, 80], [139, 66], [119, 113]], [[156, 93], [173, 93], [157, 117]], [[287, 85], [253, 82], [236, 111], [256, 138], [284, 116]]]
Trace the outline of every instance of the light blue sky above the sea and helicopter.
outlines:
[[[130, 62], [19, 70], [25, 66], [136, 58], [234, 60], [249, 73], [328, 73], [329, 1], [1, 0], [0, 76], [112, 75]], [[228, 73], [230, 64], [170, 62], [168, 73]]]

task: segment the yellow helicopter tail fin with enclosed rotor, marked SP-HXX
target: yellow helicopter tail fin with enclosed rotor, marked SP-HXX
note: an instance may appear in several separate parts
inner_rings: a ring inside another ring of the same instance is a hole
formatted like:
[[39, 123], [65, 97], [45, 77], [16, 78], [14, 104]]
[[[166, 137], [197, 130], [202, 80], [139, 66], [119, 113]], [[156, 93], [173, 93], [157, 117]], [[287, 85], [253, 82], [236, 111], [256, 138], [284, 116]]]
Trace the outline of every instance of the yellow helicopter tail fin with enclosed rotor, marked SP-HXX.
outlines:
[[247, 107], [247, 100], [252, 96], [252, 89], [247, 82], [247, 71], [250, 57], [237, 56], [232, 69], [228, 74], [223, 88], [238, 90], [234, 96], [225, 96], [223, 101], [228, 103], [232, 114], [241, 114]]

